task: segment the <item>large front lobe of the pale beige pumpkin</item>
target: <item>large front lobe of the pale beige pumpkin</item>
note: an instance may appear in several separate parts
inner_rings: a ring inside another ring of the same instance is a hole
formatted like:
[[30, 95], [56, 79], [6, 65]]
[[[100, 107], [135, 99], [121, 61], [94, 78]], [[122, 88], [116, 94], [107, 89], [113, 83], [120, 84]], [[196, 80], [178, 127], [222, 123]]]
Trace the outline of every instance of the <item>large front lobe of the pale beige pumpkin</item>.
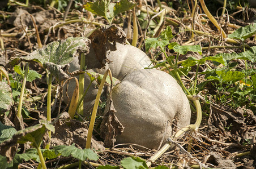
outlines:
[[134, 143], [157, 149], [163, 137], [165, 141], [172, 135], [167, 121], [175, 118], [178, 127], [190, 124], [189, 100], [176, 80], [160, 70], [127, 74], [113, 88], [112, 99], [116, 116], [125, 127], [116, 144]]

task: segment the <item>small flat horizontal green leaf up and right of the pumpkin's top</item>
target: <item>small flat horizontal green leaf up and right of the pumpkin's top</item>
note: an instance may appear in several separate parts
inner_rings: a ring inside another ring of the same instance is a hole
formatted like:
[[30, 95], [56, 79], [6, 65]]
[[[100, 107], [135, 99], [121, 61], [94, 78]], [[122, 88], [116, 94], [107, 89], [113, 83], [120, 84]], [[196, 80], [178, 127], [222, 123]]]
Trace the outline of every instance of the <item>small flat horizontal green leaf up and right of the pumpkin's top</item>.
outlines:
[[198, 52], [200, 55], [202, 55], [202, 49], [200, 47], [200, 45], [193, 45], [193, 46], [180, 46], [178, 44], [174, 45], [176, 42], [174, 43], [170, 43], [168, 45], [169, 49], [173, 49], [175, 52], [178, 52], [181, 55], [185, 55], [188, 51], [191, 52]]

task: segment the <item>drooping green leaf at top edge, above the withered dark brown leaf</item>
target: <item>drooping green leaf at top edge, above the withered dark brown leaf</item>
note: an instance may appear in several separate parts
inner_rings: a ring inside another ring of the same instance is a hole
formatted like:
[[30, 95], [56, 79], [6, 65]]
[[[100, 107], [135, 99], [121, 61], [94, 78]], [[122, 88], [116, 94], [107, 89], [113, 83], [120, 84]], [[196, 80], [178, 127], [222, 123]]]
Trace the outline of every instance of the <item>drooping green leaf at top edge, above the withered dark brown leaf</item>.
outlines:
[[92, 12], [93, 14], [105, 17], [109, 24], [112, 23], [114, 16], [117, 14], [130, 10], [136, 3], [122, 0], [120, 2], [111, 2], [110, 0], [97, 0], [95, 2], [87, 2], [84, 9]]

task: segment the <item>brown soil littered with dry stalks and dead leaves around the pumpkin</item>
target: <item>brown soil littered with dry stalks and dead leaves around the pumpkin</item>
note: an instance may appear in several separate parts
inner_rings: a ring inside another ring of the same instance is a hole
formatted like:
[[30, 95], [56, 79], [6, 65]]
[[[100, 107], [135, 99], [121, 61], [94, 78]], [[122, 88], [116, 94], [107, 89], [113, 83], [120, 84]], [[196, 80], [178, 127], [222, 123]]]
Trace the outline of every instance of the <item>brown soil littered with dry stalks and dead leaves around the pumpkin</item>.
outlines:
[[[139, 1], [140, 2], [140, 1]], [[168, 2], [168, 1], [167, 1]], [[163, 1], [163, 5], [167, 6], [170, 3]], [[203, 13], [202, 9], [199, 8], [199, 14], [196, 14], [198, 17], [195, 19], [195, 29], [202, 32], [210, 33], [211, 35], [199, 36], [195, 35], [193, 41], [190, 41], [191, 32], [181, 31], [191, 26], [193, 17], [191, 17], [191, 4], [189, 2], [190, 8], [187, 7], [188, 1], [170, 1], [173, 3], [173, 8], [170, 8], [169, 13], [167, 14], [170, 18], [169, 20], [175, 19], [177, 24], [170, 24], [171, 22], [165, 18], [164, 24], [160, 28], [165, 29], [167, 25], [172, 28], [172, 32], [176, 35], [171, 42], [177, 42], [180, 45], [201, 45], [202, 47], [207, 47], [209, 44], [211, 46], [222, 46], [231, 44], [223, 43], [223, 41], [218, 41], [214, 38], [220, 35], [216, 27], [208, 20], [207, 17], [200, 15]], [[147, 1], [147, 8], [157, 8], [156, 1]], [[207, 4], [211, 6], [211, 4]], [[216, 16], [217, 7], [221, 6], [219, 3], [214, 2], [214, 6], [211, 6], [209, 10], [212, 12], [212, 15]], [[144, 1], [142, 7], [146, 8]], [[30, 52], [39, 48], [39, 41], [37, 41], [36, 32], [38, 30], [40, 40], [42, 45], [46, 45], [50, 42], [57, 41], [59, 39], [66, 39], [67, 37], [74, 37], [77, 34], [83, 34], [85, 28], [96, 29], [97, 25], [92, 23], [81, 23], [75, 22], [70, 24], [63, 24], [63, 16], [65, 15], [65, 10], [57, 10], [54, 7], [44, 6], [41, 4], [33, 4], [29, 7], [23, 7], [10, 3], [7, 5], [7, 2], [4, 3], [1, 1], [0, 8], [0, 39], [1, 50], [0, 50], [0, 65], [5, 66], [5, 69], [9, 74], [14, 75], [14, 69], [9, 64], [9, 61], [15, 59], [16, 57], [26, 56]], [[139, 5], [136, 7], [136, 11], [139, 12]], [[186, 11], [186, 12], [185, 12]], [[221, 11], [221, 10], [220, 10]], [[256, 8], [246, 7], [242, 10], [228, 7], [229, 17], [225, 15], [224, 17], [216, 17], [218, 23], [221, 24], [221, 27], [226, 33], [233, 32], [240, 26], [246, 26], [252, 23], [255, 23]], [[141, 11], [140, 11], [141, 12]], [[31, 15], [29, 15], [31, 14]], [[200, 17], [199, 17], [200, 15]], [[131, 12], [123, 12], [123, 14], [118, 14], [116, 19], [114, 19], [113, 24], [120, 26], [126, 34], [129, 34], [132, 29], [129, 28], [128, 17], [131, 16]], [[35, 20], [37, 30], [33, 21]], [[100, 24], [108, 24], [103, 17], [94, 16], [91, 12], [82, 11], [82, 6], [79, 6], [79, 3], [76, 3], [71, 6], [69, 12], [67, 13], [67, 20], [79, 19], [84, 17], [89, 21], [96, 21]], [[202, 19], [206, 21], [202, 21]], [[139, 20], [147, 21], [147, 15], [144, 18], [139, 18]], [[159, 19], [155, 17], [153, 21], [157, 23]], [[230, 26], [228, 24], [232, 24]], [[55, 28], [54, 28], [55, 26]], [[144, 33], [147, 32], [147, 37], [150, 37], [150, 30], [152, 25], [146, 30], [145, 26], [140, 22], [139, 27], [139, 39], [137, 47], [142, 51], [145, 51], [144, 47]], [[147, 27], [147, 25], [146, 25]], [[235, 28], [234, 28], [235, 27]], [[161, 29], [160, 29], [161, 30]], [[132, 34], [132, 32], [131, 32]], [[159, 32], [160, 34], [160, 32]], [[159, 34], [156, 34], [157, 37]], [[127, 41], [131, 42], [132, 37], [127, 37]], [[189, 43], [188, 43], [189, 42]], [[255, 35], [246, 40], [246, 44], [250, 47], [256, 45]], [[156, 54], [160, 51], [159, 48], [148, 52], [148, 56], [153, 59]], [[239, 48], [214, 48], [203, 50], [203, 55], [205, 56], [214, 56], [221, 52], [241, 52]], [[172, 50], [167, 50], [168, 55], [173, 55]], [[186, 59], [189, 56], [197, 57], [198, 59], [202, 58], [202, 55], [195, 54], [194, 52], [188, 52], [186, 55], [181, 55], [180, 59]], [[255, 56], [256, 57], [256, 56]], [[156, 60], [163, 61], [165, 59], [164, 55], [159, 55]], [[238, 61], [238, 64], [241, 66], [241, 69], [244, 68], [244, 64]], [[213, 66], [213, 64], [210, 64]], [[255, 66], [254, 66], [255, 67]], [[42, 78], [36, 79], [31, 83], [27, 83], [26, 88], [29, 95], [28, 98], [39, 96], [38, 101], [28, 102], [25, 101], [25, 107], [27, 108], [29, 117], [23, 119], [24, 126], [33, 126], [39, 122], [39, 119], [46, 119], [46, 91], [47, 83], [45, 69], [42, 68], [39, 64], [31, 64], [30, 69], [36, 70], [38, 73], [42, 74]], [[203, 72], [206, 69], [206, 65], [199, 67], [199, 72]], [[255, 69], [255, 68], [254, 68]], [[195, 74], [196, 67], [192, 67], [189, 73], [190, 77], [193, 77]], [[199, 82], [205, 81], [204, 75], [200, 75], [198, 78]], [[184, 81], [185, 86], [189, 87], [190, 84], [187, 81]], [[211, 96], [216, 94], [216, 88], [207, 84], [207, 91]], [[53, 86], [56, 87], [57, 83], [53, 83]], [[203, 91], [204, 92], [204, 91]], [[53, 90], [52, 99], [55, 99], [57, 95], [56, 90]], [[57, 98], [57, 104], [52, 107], [52, 118], [58, 117], [58, 109], [61, 112], [65, 112], [65, 104], [61, 104], [59, 108], [59, 100]], [[208, 98], [211, 100], [211, 98]], [[253, 101], [255, 104], [255, 100]], [[256, 114], [251, 109], [246, 109], [246, 105], [238, 106], [233, 108], [227, 104], [218, 103], [215, 100], [202, 101], [201, 106], [203, 108], [203, 120], [195, 132], [188, 132], [185, 134], [182, 139], [177, 141], [178, 144], [182, 145], [186, 152], [182, 151], [179, 146], [174, 146], [172, 149], [168, 150], [165, 154], [161, 155], [156, 162], [153, 162], [152, 167], [157, 165], [163, 165], [167, 167], [178, 166], [178, 168], [200, 168], [198, 161], [200, 163], [206, 164], [211, 168], [255, 168], [256, 166]], [[7, 118], [9, 120], [3, 120], [2, 116], [1, 121], [5, 124], [11, 125], [14, 123], [14, 117], [16, 109], [18, 108], [18, 103], [15, 103], [12, 106], [10, 114]], [[191, 123], [195, 122], [196, 114], [193, 112]], [[6, 117], [5, 117], [6, 118]], [[100, 126], [99, 123], [103, 118], [102, 110], [99, 110], [99, 119], [96, 121], [96, 126]], [[9, 123], [7, 123], [7, 121]], [[10, 122], [11, 121], [11, 122]], [[70, 126], [72, 123], [72, 127]], [[71, 145], [79, 148], [85, 148], [87, 128], [88, 128], [89, 119], [77, 118], [71, 122], [66, 122], [66, 117], [59, 119], [56, 122], [56, 134], [52, 136], [52, 145]], [[15, 126], [15, 124], [13, 124]], [[17, 126], [17, 125], [16, 125]], [[19, 126], [19, 124], [18, 124]], [[96, 127], [95, 130], [99, 130], [99, 127]], [[122, 145], [114, 146], [111, 149], [105, 149], [103, 146], [103, 140], [99, 136], [99, 131], [95, 131], [95, 137], [93, 139], [92, 148], [100, 149], [97, 154], [100, 156], [100, 160], [96, 163], [111, 166], [120, 165], [120, 161], [125, 157], [135, 156], [142, 159], [149, 159], [152, 157], [157, 150], [144, 149], [138, 145]], [[44, 144], [46, 145], [47, 137], [45, 137]], [[26, 149], [25, 146], [20, 146], [22, 150]], [[193, 158], [191, 158], [191, 156]], [[58, 163], [57, 163], [58, 161]], [[46, 165], [49, 168], [54, 168], [77, 162], [74, 158], [60, 157], [58, 159], [47, 160]], [[19, 168], [36, 168], [38, 163], [28, 161], [23, 162]], [[75, 167], [74, 167], [75, 168]], [[90, 166], [83, 165], [82, 168], [90, 168]]]

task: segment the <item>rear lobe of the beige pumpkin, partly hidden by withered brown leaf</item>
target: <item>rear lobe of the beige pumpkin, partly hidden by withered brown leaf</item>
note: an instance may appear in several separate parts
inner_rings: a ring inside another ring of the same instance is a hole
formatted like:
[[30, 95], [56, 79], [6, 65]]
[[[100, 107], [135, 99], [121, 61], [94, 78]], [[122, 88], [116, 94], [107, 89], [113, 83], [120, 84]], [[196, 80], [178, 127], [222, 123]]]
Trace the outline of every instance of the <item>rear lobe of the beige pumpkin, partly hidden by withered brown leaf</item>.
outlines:
[[[131, 45], [122, 45], [121, 43], [116, 43], [116, 50], [108, 50], [106, 51], [106, 58], [110, 61], [110, 63], [106, 63], [105, 68], [96, 69], [100, 67], [99, 61], [96, 59], [95, 52], [91, 47], [91, 50], [88, 55], [86, 55], [86, 65], [89, 69], [88, 72], [96, 72], [100, 74], [104, 74], [106, 69], [110, 69], [113, 77], [122, 81], [122, 79], [129, 73], [134, 70], [144, 69], [145, 67], [151, 64], [151, 60], [148, 56], [138, 48]], [[74, 72], [75, 70], [79, 70], [80, 65], [78, 61], [78, 57], [75, 57], [74, 61], [70, 63], [69, 72]], [[78, 77], [77, 77], [78, 78]], [[84, 77], [84, 91], [86, 90], [88, 84], [90, 82], [89, 76], [85, 75]], [[67, 94], [72, 98], [72, 94], [74, 91], [75, 82], [71, 81], [69, 84], [69, 90], [67, 90]], [[69, 104], [67, 96], [65, 96], [66, 86], [63, 87], [63, 100], [66, 104]], [[97, 83], [94, 81], [91, 87], [88, 90], [86, 97], [84, 98], [84, 115], [89, 115], [89, 112], [93, 108], [93, 104], [95, 103], [95, 98], [97, 95]]]

